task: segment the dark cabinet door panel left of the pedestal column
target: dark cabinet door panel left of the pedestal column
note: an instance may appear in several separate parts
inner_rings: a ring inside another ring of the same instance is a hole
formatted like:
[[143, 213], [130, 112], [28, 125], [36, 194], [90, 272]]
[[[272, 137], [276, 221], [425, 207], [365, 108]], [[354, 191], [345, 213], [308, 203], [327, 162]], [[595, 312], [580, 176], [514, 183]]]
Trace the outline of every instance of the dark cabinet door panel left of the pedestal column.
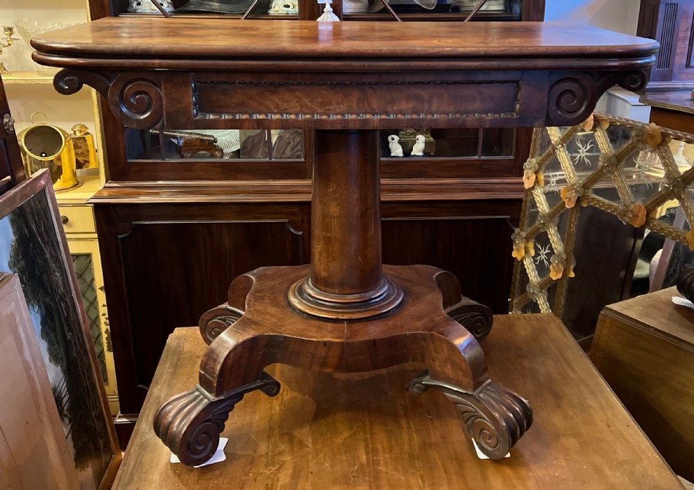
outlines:
[[257, 267], [305, 262], [298, 205], [95, 206], [121, 412], [142, 406], [166, 339]]

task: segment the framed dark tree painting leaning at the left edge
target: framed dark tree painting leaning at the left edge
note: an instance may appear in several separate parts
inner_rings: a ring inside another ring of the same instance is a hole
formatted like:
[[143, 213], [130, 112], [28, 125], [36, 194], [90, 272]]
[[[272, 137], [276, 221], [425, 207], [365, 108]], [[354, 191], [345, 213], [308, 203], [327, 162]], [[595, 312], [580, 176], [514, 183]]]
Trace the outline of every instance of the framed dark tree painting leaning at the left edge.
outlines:
[[0, 273], [26, 298], [78, 489], [107, 489], [121, 459], [51, 177], [0, 196]]

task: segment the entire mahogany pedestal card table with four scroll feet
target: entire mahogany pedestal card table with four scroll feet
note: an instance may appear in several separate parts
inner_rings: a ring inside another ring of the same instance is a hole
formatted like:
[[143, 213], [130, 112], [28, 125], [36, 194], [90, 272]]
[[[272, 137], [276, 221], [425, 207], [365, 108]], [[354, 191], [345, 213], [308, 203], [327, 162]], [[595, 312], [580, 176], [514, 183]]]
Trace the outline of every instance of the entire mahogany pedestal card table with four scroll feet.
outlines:
[[155, 417], [182, 462], [210, 458], [248, 391], [277, 393], [264, 373], [276, 362], [341, 373], [421, 363], [411, 391], [443, 391], [492, 459], [530, 428], [527, 401], [487, 375], [478, 339], [491, 312], [446, 271], [382, 265], [376, 130], [577, 124], [612, 85], [643, 87], [656, 42], [551, 22], [319, 32], [303, 21], [115, 17], [32, 45], [37, 62], [63, 68], [59, 92], [91, 85], [129, 127], [316, 130], [311, 264], [244, 274], [201, 317], [210, 346], [198, 386]]

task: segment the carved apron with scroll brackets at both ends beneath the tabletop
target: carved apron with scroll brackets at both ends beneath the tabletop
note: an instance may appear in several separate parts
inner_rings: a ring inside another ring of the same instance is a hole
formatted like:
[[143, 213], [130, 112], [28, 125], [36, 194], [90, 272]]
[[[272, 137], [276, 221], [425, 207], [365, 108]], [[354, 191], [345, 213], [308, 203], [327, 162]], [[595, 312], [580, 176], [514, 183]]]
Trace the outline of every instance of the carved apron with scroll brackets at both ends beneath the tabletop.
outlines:
[[[37, 53], [35, 58], [49, 63]], [[230, 74], [223, 66], [196, 68], [196, 60], [186, 60], [194, 71], [182, 73], [174, 71], [176, 65], [160, 67], [158, 60], [139, 60], [134, 69], [108, 60], [102, 70], [88, 67], [91, 58], [58, 58], [66, 68], [54, 86], [73, 94], [83, 83], [91, 85], [122, 124], [137, 129], [162, 124], [196, 130], [570, 126], [588, 117], [607, 88], [641, 89], [644, 69], [652, 63], [652, 56], [627, 58], [615, 68], [612, 61], [588, 59], [592, 68], [562, 69], [552, 58], [539, 65], [501, 60], [486, 67], [475, 58], [419, 63], [346, 57], [296, 60], [283, 69], [286, 73], [280, 66], [285, 61], [235, 60]], [[160, 71], [164, 68], [170, 69]], [[264, 91], [269, 95], [259, 96]], [[177, 102], [164, 104], [164, 99]]]

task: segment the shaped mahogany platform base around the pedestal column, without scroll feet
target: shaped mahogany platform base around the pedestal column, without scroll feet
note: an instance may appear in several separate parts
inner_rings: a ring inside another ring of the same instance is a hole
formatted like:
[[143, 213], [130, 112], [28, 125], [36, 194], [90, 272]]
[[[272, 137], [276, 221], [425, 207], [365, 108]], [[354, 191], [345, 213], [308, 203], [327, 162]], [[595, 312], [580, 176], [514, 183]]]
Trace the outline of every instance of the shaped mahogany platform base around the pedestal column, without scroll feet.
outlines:
[[[385, 270], [407, 294], [407, 303], [378, 319], [332, 323], [303, 316], [286, 303], [273, 301], [307, 274], [307, 266], [263, 267], [248, 273], [254, 285], [246, 297], [246, 312], [203, 357], [201, 386], [221, 396], [251, 382], [273, 362], [316, 371], [362, 372], [418, 360], [439, 380], [469, 391], [481, 387], [488, 379], [484, 357], [475, 350], [472, 336], [443, 310], [443, 298], [435, 282], [442, 271], [429, 266], [386, 266]], [[455, 280], [450, 274], [447, 277]], [[432, 295], [432, 301], [424, 301], [428, 295]], [[428, 332], [438, 335], [426, 335]], [[254, 338], [256, 335], [264, 337]], [[414, 337], [418, 341], [412, 341]], [[246, 340], [263, 346], [246, 347]], [[274, 344], [276, 341], [281, 348]], [[230, 349], [222, 348], [224, 345]], [[470, 355], [465, 361], [462, 355], [446, 355], [447, 350]], [[307, 352], [312, 355], [304, 355]], [[244, 360], [239, 362], [240, 358]], [[229, 369], [231, 366], [236, 368]]]

